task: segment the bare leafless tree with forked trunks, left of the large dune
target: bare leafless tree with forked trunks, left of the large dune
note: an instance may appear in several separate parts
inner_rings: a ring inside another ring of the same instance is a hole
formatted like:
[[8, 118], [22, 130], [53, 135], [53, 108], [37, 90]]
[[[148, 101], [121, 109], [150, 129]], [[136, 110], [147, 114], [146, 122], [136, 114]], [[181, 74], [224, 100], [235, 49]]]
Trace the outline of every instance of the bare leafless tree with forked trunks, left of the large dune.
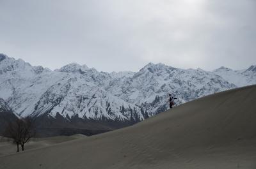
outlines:
[[26, 117], [25, 119], [8, 122], [4, 136], [11, 138], [12, 142], [17, 145], [17, 152], [19, 152], [19, 145], [21, 145], [22, 151], [24, 151], [24, 144], [29, 142], [31, 137], [35, 136], [33, 119]]

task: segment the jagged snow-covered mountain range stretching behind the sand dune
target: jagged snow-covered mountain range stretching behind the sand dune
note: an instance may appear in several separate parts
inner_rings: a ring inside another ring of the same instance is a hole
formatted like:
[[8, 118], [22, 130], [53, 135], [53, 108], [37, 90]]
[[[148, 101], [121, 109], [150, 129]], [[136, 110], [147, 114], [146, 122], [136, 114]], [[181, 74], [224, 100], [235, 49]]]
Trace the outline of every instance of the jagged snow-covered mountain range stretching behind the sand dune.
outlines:
[[136, 73], [106, 73], [72, 63], [51, 71], [1, 54], [0, 97], [21, 117], [133, 123], [166, 110], [168, 92], [179, 105], [241, 86], [227, 78], [228, 72], [247, 77], [241, 85], [255, 84], [254, 67], [210, 72], [149, 63]]

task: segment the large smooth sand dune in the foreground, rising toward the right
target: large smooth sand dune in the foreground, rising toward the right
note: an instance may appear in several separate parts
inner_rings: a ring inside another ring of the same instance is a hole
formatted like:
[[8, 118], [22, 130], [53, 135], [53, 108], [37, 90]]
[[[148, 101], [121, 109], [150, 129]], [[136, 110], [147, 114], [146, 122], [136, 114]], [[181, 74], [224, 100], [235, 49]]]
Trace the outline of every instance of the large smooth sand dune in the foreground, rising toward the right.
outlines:
[[129, 128], [2, 156], [0, 168], [256, 168], [256, 86], [197, 99]]

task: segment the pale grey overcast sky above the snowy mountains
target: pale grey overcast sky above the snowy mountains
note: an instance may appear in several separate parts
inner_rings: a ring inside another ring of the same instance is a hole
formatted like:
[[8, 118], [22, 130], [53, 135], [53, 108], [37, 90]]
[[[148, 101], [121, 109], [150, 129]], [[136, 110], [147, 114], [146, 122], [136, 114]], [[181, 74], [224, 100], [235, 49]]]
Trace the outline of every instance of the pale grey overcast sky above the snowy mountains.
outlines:
[[0, 53], [52, 70], [256, 64], [255, 0], [0, 0]]

